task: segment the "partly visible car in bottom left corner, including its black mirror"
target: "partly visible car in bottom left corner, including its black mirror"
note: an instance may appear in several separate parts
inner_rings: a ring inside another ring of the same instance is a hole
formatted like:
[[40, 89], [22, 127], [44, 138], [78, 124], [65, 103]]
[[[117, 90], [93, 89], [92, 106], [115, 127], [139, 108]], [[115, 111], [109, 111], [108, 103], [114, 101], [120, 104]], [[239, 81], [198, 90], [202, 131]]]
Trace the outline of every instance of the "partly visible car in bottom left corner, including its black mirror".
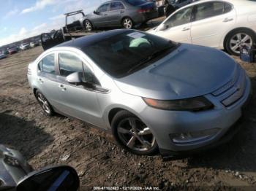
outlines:
[[59, 165], [34, 171], [20, 152], [1, 144], [0, 171], [0, 190], [5, 191], [77, 191], [80, 184], [74, 168]]

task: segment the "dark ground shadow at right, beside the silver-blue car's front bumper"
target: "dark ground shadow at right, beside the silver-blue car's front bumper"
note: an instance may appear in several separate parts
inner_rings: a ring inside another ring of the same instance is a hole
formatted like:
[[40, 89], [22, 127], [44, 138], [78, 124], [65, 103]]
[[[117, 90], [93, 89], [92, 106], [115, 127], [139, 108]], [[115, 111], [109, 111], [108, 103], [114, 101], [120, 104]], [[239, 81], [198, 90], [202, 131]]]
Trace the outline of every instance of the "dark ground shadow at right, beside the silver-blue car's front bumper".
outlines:
[[[252, 90], [256, 78], [252, 78]], [[189, 157], [189, 168], [214, 168], [230, 171], [256, 172], [256, 95], [252, 95], [244, 111], [241, 129], [227, 144]]]

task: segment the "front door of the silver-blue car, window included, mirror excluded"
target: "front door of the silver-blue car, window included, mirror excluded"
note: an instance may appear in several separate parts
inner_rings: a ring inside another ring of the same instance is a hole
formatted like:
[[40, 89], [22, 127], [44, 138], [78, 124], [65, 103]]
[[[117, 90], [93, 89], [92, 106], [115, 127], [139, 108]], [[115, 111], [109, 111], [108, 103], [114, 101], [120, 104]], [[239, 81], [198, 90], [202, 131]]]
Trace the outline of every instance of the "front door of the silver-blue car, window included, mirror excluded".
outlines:
[[72, 52], [59, 52], [59, 93], [61, 93], [62, 108], [65, 114], [102, 126], [97, 92], [86, 85], [73, 85], [66, 77], [74, 72], [83, 74], [86, 82], [98, 83], [88, 66]]

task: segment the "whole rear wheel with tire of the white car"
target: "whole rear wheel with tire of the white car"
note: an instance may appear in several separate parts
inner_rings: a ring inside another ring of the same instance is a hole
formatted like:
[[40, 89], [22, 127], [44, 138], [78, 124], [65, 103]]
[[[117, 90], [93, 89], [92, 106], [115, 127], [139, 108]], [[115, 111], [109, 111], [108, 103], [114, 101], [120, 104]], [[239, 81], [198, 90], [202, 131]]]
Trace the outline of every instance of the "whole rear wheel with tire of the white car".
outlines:
[[236, 31], [232, 31], [230, 34], [227, 35], [225, 40], [225, 50], [230, 55], [240, 55], [239, 47], [241, 45], [248, 45], [252, 47], [255, 44], [255, 36], [256, 34], [249, 29], [238, 29]]

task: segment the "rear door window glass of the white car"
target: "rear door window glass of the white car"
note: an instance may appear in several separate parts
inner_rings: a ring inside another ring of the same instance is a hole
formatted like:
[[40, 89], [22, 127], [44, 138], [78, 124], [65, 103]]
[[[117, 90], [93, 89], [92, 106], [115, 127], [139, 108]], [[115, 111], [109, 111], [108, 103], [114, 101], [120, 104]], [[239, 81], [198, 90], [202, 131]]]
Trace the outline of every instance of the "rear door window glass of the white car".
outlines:
[[224, 12], [225, 3], [222, 2], [209, 2], [198, 4], [195, 11], [195, 20], [202, 20], [208, 17], [222, 15]]

